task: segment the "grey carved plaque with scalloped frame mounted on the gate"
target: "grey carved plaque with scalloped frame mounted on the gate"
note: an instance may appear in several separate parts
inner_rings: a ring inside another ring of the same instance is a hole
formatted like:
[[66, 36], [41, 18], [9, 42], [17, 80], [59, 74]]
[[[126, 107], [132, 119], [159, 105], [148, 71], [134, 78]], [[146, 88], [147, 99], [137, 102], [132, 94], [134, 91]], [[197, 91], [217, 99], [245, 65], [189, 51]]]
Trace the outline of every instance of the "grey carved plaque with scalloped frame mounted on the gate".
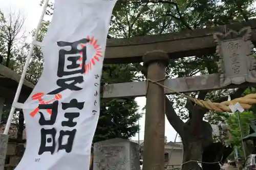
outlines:
[[221, 85], [256, 82], [256, 60], [252, 56], [250, 35], [250, 27], [239, 32], [230, 30], [226, 34], [214, 34], [216, 53], [220, 56], [218, 66]]

